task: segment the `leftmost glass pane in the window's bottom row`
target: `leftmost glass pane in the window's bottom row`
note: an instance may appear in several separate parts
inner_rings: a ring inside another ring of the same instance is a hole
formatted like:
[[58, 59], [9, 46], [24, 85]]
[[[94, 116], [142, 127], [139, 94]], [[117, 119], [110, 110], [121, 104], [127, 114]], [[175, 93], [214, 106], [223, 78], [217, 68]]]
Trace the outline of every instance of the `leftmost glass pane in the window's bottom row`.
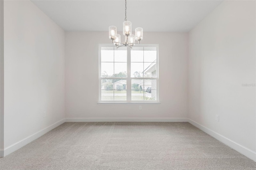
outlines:
[[101, 100], [114, 100], [113, 79], [101, 80]]

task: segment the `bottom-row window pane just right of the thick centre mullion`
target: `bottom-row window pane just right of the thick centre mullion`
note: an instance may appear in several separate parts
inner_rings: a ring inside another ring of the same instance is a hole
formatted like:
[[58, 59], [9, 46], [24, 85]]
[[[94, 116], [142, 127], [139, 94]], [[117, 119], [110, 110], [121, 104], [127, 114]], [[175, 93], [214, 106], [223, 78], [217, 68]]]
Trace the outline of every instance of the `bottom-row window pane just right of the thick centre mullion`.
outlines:
[[132, 100], [144, 100], [143, 79], [132, 79]]

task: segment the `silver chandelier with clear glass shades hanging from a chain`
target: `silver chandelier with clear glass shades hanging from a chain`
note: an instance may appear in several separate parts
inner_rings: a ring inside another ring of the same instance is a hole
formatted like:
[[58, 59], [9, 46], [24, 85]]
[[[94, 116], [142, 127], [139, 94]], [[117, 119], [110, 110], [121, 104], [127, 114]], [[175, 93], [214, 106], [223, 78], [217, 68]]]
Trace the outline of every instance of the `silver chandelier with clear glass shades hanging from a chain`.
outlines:
[[[143, 39], [143, 29], [142, 28], [136, 28], [135, 29], [135, 35], [132, 34], [132, 22], [127, 21], [126, 19], [126, 0], [125, 0], [125, 18], [123, 22], [123, 35], [125, 36], [125, 41], [121, 43], [121, 36], [120, 34], [117, 34], [117, 28], [116, 26], [110, 26], [108, 28], [109, 32], [109, 39], [112, 40], [112, 43], [116, 45], [116, 48], [122, 47], [122, 46], [129, 46], [132, 48], [136, 43], [140, 43], [140, 41]], [[138, 42], [136, 42], [138, 41]]]

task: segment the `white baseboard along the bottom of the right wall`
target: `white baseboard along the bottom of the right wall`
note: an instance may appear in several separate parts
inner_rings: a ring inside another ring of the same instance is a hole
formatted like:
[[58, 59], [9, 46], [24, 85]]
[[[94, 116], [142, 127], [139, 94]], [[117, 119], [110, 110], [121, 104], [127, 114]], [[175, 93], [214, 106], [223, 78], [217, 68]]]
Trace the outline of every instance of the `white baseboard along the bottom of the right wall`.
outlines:
[[206, 132], [207, 134], [211, 135], [212, 137], [216, 138], [220, 142], [228, 145], [230, 148], [240, 152], [244, 156], [247, 156], [248, 158], [254, 160], [256, 162], [256, 152], [253, 150], [250, 150], [233, 140], [230, 140], [229, 138], [226, 138], [225, 136], [222, 136], [221, 134], [218, 134], [217, 132], [214, 132], [213, 130], [210, 130], [207, 127], [204, 127], [203, 125], [200, 125], [199, 123], [196, 123], [195, 121], [192, 121], [191, 119], [188, 119], [188, 123], [194, 125], [195, 127], [199, 128], [200, 130]]

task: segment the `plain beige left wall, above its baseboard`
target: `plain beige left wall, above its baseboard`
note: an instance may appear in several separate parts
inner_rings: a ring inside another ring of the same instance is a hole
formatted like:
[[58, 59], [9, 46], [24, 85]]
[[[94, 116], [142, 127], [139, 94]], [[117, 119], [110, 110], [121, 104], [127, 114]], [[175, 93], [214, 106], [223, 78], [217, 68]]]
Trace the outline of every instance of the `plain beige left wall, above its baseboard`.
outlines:
[[64, 44], [32, 2], [4, 1], [4, 148], [65, 118]]

